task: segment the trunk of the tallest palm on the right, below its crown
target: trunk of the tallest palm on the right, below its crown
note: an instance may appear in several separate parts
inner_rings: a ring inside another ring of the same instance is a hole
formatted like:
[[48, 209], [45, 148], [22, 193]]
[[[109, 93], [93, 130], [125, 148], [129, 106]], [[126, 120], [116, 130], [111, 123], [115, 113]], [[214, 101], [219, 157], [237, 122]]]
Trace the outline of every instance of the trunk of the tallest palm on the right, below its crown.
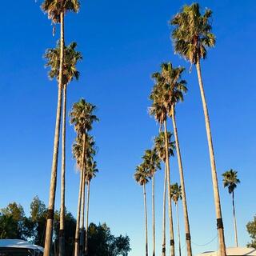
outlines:
[[215, 212], [216, 212], [216, 218], [217, 218], [219, 250], [220, 250], [220, 256], [226, 256], [224, 226], [222, 221], [222, 208], [221, 208], [221, 202], [220, 202], [219, 192], [218, 192], [218, 177], [217, 177], [215, 158], [214, 158], [214, 146], [213, 146], [213, 141], [211, 137], [210, 118], [209, 118], [207, 104], [206, 104], [206, 95], [205, 95], [203, 84], [202, 84], [200, 60], [198, 60], [198, 62], [196, 63], [196, 67], [198, 71], [198, 82], [199, 82], [200, 93], [202, 98], [202, 108], [205, 115], [206, 134], [207, 134], [208, 147], [209, 147], [209, 153], [210, 153], [210, 166], [211, 166], [212, 182], [214, 187], [214, 204], [215, 204]]

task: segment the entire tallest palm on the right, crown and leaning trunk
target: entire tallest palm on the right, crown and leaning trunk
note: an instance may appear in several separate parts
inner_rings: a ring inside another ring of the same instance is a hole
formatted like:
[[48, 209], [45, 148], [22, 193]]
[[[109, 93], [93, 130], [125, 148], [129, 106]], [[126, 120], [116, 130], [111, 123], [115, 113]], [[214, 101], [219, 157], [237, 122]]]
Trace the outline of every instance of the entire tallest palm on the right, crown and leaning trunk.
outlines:
[[210, 118], [202, 83], [200, 64], [201, 58], [206, 58], [207, 48], [213, 47], [215, 44], [215, 36], [211, 33], [211, 16], [211, 10], [206, 9], [205, 13], [201, 14], [198, 3], [193, 3], [190, 6], [183, 6], [182, 11], [176, 14], [170, 23], [174, 26], [172, 38], [174, 41], [175, 53], [180, 54], [183, 58], [189, 61], [191, 65], [194, 64], [198, 72], [198, 83], [201, 92], [202, 108], [205, 116], [206, 134], [210, 153], [210, 166], [214, 187], [214, 203], [217, 218], [220, 255], [226, 256], [222, 210], [218, 192], [218, 177], [214, 159], [214, 146], [212, 142]]

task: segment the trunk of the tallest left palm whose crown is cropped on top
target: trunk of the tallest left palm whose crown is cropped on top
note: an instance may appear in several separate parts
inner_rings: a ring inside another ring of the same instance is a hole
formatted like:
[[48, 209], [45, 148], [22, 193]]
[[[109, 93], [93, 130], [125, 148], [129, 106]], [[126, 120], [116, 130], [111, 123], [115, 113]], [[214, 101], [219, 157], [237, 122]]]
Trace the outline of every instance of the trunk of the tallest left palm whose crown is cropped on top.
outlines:
[[60, 53], [60, 66], [59, 66], [59, 78], [58, 78], [58, 105], [56, 114], [55, 134], [54, 134], [54, 154], [50, 176], [50, 196], [48, 205], [48, 216], [46, 222], [46, 239], [44, 246], [44, 256], [50, 256], [50, 247], [53, 234], [53, 222], [54, 222], [54, 204], [56, 194], [57, 183], [57, 170], [58, 170], [58, 144], [59, 144], [59, 130], [61, 122], [62, 112], [62, 67], [64, 58], [64, 13], [61, 13], [61, 53]]

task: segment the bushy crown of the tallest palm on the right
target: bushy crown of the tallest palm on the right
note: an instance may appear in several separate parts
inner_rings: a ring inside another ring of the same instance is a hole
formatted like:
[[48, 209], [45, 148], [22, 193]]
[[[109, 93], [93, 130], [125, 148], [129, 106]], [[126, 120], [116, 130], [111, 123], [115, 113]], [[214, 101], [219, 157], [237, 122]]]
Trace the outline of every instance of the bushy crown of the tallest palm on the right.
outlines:
[[198, 3], [183, 6], [170, 24], [174, 26], [172, 38], [175, 53], [181, 54], [190, 63], [206, 58], [206, 49], [215, 45], [215, 36], [211, 33], [210, 18], [212, 11], [205, 10], [202, 15]]

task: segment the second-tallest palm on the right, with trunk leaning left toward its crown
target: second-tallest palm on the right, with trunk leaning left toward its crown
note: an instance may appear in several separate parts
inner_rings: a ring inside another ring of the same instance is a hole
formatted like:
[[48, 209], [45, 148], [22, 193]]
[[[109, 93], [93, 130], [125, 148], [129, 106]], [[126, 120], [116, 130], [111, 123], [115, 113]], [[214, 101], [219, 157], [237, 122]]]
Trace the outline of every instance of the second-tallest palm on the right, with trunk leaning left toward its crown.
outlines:
[[191, 248], [191, 235], [190, 235], [190, 222], [188, 217], [188, 210], [187, 210], [187, 203], [186, 203], [186, 189], [185, 189], [185, 180], [183, 174], [183, 166], [182, 166], [182, 156], [180, 152], [180, 146], [178, 142], [178, 130], [176, 126], [176, 119], [175, 119], [175, 105], [177, 102], [183, 101], [183, 93], [186, 93], [186, 81], [182, 80], [182, 72], [185, 69], [183, 67], [176, 67], [174, 68], [172, 64], [169, 63], [162, 63], [161, 65], [161, 73], [155, 73], [154, 78], [158, 81], [158, 90], [162, 90], [165, 98], [165, 106], [167, 110], [168, 117], [172, 118], [173, 126], [174, 126], [174, 138], [175, 144], [177, 148], [177, 158], [178, 158], [178, 170], [179, 176], [182, 186], [182, 206], [184, 211], [184, 223], [185, 223], [185, 230], [186, 230], [186, 250], [187, 255], [192, 255], [192, 248]]

